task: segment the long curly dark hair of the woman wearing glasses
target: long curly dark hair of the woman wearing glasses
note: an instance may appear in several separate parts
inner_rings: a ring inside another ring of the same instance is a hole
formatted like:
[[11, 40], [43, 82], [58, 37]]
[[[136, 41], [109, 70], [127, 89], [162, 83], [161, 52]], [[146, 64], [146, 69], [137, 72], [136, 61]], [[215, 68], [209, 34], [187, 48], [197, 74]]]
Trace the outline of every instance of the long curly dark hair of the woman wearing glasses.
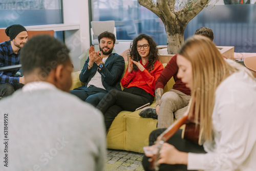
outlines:
[[[156, 42], [153, 40], [153, 38], [151, 38], [150, 36], [146, 35], [146, 34], [141, 34], [139, 35], [138, 37], [134, 38], [131, 46], [130, 46], [130, 49], [131, 49], [131, 58], [135, 61], [139, 61], [141, 59], [141, 56], [139, 55], [139, 52], [137, 50], [137, 42], [139, 40], [142, 40], [142, 39], [146, 39], [148, 41], [148, 44], [150, 45], [149, 48], [150, 48], [150, 53], [148, 53], [148, 63], [147, 63], [147, 66], [146, 66], [146, 70], [148, 71], [152, 71], [154, 69], [154, 63], [159, 60], [159, 57], [158, 57], [158, 49], [157, 49], [157, 44]], [[138, 70], [138, 67], [136, 65], [133, 65], [133, 70], [134, 71], [137, 71]]]

